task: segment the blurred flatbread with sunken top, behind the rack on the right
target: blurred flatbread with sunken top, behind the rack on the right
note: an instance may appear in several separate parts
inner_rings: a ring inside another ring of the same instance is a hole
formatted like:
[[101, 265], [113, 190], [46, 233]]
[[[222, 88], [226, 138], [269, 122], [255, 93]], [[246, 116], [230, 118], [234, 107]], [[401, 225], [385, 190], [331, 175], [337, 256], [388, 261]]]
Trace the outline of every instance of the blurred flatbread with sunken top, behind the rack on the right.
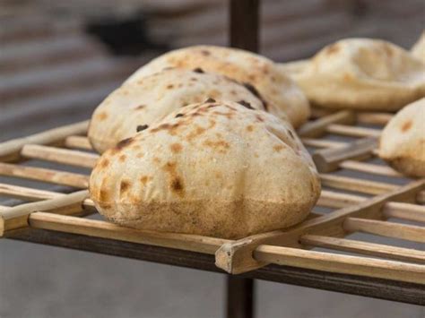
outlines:
[[425, 96], [425, 64], [377, 39], [343, 39], [281, 71], [319, 107], [390, 111]]

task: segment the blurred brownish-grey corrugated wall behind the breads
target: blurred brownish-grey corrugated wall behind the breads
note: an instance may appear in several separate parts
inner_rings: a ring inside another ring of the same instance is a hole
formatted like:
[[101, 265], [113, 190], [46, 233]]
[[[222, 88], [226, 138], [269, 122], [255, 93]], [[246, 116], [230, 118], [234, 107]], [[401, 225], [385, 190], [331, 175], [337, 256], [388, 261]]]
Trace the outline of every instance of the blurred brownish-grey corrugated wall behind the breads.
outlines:
[[[90, 21], [141, 16], [149, 38], [160, 46], [227, 45], [227, 1], [105, 3], [0, 4], [1, 140], [90, 116], [108, 92], [161, 52], [145, 47], [139, 56], [113, 56], [84, 31]], [[288, 61], [353, 36], [409, 47], [424, 28], [424, 6], [421, 0], [263, 0], [261, 52]]]

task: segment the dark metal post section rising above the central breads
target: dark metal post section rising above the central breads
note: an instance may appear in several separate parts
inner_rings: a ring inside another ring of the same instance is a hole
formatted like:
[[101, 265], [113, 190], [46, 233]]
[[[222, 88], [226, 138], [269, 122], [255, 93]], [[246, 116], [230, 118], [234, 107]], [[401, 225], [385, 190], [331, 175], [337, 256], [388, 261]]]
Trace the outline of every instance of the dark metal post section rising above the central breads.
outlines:
[[230, 0], [230, 47], [259, 50], [259, 0]]

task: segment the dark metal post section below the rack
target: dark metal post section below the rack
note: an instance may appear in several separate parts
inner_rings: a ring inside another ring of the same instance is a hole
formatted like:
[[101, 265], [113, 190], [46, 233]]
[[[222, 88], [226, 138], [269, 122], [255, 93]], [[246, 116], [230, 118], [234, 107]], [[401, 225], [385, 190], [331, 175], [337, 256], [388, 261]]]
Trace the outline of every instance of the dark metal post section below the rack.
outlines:
[[228, 275], [227, 317], [254, 317], [254, 279]]

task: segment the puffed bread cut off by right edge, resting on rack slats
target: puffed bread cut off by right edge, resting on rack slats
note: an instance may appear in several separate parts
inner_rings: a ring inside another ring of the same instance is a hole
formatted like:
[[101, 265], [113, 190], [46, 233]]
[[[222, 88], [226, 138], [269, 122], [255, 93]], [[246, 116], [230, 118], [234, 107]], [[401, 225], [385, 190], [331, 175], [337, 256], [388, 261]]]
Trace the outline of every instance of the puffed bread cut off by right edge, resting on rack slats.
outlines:
[[425, 99], [400, 110], [381, 134], [379, 157], [407, 176], [425, 177]]

